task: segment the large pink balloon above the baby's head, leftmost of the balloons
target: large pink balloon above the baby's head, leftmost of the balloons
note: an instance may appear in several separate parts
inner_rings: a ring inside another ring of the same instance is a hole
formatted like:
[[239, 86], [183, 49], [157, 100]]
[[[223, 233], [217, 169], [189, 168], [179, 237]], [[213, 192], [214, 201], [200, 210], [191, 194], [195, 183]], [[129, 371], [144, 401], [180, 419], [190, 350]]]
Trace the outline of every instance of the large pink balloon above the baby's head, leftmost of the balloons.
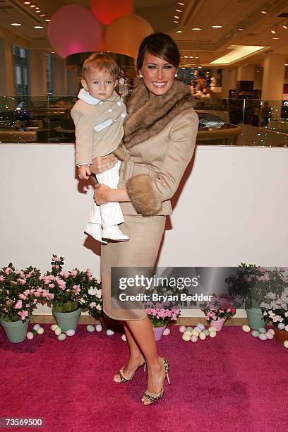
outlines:
[[68, 4], [58, 9], [48, 27], [49, 42], [59, 56], [96, 51], [101, 40], [101, 25], [90, 9]]

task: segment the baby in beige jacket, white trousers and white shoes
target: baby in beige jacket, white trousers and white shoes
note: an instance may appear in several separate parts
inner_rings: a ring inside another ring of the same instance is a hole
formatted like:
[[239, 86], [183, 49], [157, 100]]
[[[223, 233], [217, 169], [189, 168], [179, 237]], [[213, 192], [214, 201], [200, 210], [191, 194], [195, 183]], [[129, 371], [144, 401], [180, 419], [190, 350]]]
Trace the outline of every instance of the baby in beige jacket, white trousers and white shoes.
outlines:
[[[83, 64], [83, 88], [71, 110], [76, 126], [76, 166], [80, 179], [88, 180], [92, 160], [112, 153], [123, 137], [126, 107], [114, 90], [118, 76], [119, 67], [109, 54], [92, 54]], [[117, 188], [120, 163], [96, 174], [98, 183]], [[119, 203], [98, 206], [93, 201], [85, 233], [103, 244], [107, 244], [104, 239], [125, 241], [129, 237], [118, 227], [122, 222]]]

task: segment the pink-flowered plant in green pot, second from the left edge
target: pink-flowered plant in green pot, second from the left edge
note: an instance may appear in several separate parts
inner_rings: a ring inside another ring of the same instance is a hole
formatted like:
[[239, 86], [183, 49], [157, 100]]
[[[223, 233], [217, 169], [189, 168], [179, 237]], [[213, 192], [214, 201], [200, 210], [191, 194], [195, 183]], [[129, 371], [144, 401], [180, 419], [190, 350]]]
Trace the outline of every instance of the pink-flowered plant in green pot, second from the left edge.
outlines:
[[[76, 330], [82, 308], [99, 310], [102, 296], [100, 284], [92, 277], [89, 269], [85, 272], [78, 268], [68, 272], [62, 270], [62, 256], [53, 255], [51, 264], [52, 270], [42, 277], [42, 283], [49, 293], [53, 294], [53, 299], [49, 302], [52, 313], [63, 332]], [[92, 292], [95, 294], [91, 294]], [[92, 299], [95, 306], [89, 306]]]

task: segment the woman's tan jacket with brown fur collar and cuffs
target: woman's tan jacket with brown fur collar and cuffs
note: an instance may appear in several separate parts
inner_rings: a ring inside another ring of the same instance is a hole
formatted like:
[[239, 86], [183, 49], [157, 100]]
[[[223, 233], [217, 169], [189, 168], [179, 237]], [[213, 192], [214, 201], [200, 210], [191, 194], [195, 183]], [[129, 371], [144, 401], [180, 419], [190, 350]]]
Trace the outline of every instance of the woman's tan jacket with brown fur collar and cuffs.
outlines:
[[126, 100], [124, 138], [114, 154], [123, 162], [118, 188], [126, 186], [131, 202], [124, 215], [170, 215], [174, 196], [193, 156], [198, 115], [184, 83], [175, 80], [163, 96], [140, 81]]

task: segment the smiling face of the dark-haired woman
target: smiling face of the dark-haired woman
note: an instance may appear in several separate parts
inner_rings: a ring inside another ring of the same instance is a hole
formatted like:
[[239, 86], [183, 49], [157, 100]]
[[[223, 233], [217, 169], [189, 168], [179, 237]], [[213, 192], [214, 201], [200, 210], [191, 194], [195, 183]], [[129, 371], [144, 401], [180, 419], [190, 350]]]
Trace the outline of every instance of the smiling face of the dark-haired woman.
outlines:
[[160, 57], [145, 52], [139, 73], [143, 75], [146, 87], [154, 95], [164, 95], [174, 83], [177, 68]]

